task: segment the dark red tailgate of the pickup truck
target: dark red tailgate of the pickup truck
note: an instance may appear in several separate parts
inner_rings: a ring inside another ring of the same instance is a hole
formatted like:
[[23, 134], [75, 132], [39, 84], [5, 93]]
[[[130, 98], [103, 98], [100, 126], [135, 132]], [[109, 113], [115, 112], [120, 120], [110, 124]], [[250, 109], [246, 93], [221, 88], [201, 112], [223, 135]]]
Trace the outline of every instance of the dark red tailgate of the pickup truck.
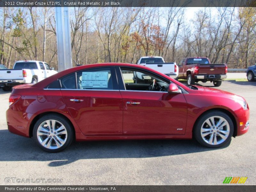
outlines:
[[226, 64], [199, 64], [198, 74], [223, 75]]

